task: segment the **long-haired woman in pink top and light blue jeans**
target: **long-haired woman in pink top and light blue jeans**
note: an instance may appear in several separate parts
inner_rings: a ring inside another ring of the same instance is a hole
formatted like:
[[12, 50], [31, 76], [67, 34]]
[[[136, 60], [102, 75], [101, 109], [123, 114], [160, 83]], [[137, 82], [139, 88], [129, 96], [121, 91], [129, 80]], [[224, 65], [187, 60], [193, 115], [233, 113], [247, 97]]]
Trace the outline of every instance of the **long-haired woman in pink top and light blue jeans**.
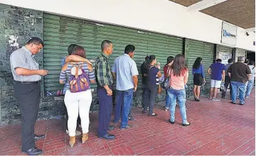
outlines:
[[175, 106], [176, 99], [178, 99], [178, 104], [180, 107], [180, 113], [182, 118], [182, 126], [190, 126], [186, 119], [186, 90], [185, 84], [188, 82], [188, 68], [185, 65], [185, 59], [183, 55], [178, 54], [174, 58], [174, 63], [171, 66], [170, 74], [170, 89], [168, 89], [168, 94], [171, 98], [170, 114], [171, 118], [169, 122], [174, 124], [175, 120]]

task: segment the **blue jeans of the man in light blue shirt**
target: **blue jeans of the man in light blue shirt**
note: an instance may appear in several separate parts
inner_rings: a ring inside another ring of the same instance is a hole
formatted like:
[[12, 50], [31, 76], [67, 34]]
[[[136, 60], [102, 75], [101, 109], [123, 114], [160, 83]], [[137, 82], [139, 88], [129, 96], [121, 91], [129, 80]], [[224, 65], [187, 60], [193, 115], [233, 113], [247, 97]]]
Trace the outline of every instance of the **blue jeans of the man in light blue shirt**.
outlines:
[[132, 97], [133, 89], [128, 89], [126, 91], [117, 90], [117, 104], [114, 108], [114, 123], [117, 123], [121, 116], [121, 128], [127, 127], [128, 114], [132, 104]]

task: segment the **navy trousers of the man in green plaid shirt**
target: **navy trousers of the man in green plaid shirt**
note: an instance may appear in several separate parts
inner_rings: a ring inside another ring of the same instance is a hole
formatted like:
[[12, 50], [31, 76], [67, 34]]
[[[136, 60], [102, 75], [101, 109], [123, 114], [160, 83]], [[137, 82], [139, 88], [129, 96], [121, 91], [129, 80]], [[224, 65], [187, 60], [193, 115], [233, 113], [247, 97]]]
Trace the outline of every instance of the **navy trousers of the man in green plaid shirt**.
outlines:
[[[109, 86], [110, 87], [110, 86]], [[110, 87], [112, 89], [112, 87]], [[102, 137], [107, 134], [107, 128], [110, 124], [112, 114], [112, 96], [107, 96], [104, 87], [97, 87], [97, 96], [99, 97], [99, 126], [97, 134]]]

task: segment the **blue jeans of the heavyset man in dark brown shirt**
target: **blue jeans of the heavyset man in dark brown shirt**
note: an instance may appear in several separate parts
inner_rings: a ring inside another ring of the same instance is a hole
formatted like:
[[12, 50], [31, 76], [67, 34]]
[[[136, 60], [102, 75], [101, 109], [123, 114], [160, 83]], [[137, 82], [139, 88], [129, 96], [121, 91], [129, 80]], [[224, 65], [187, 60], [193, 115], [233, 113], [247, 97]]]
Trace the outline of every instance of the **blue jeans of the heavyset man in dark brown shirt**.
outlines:
[[239, 91], [239, 100], [240, 104], [245, 104], [245, 89], [246, 89], [246, 84], [242, 82], [231, 82], [232, 85], [232, 96], [231, 96], [231, 101], [235, 103], [236, 101], [236, 96]]

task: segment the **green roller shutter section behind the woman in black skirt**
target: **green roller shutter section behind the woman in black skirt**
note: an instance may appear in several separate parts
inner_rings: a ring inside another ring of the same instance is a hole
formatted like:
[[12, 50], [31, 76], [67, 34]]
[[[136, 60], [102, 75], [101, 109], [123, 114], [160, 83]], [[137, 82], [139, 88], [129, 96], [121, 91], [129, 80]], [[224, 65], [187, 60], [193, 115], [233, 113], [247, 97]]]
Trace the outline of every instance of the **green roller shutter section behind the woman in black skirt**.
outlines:
[[214, 45], [196, 40], [186, 39], [186, 62], [189, 70], [188, 85], [193, 85], [192, 68], [197, 57], [202, 57], [204, 72], [206, 75], [206, 89], [210, 88], [210, 77], [207, 69], [213, 63]]

